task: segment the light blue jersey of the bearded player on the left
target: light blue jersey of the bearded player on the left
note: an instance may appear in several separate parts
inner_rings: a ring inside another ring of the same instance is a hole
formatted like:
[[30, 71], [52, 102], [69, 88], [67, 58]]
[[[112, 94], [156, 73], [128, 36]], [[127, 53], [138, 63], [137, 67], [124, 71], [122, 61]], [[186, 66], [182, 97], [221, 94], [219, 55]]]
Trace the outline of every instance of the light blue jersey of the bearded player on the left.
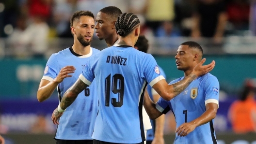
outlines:
[[[72, 73], [72, 77], [64, 78], [63, 82], [57, 87], [59, 100], [61, 101], [65, 91], [79, 78], [88, 59], [98, 52], [99, 50], [91, 48], [88, 55], [79, 56], [72, 48], [66, 48], [57, 54], [52, 54], [48, 59], [42, 79], [52, 81], [65, 66], [74, 66], [76, 68], [75, 73]], [[93, 82], [67, 107], [59, 119], [60, 125], [57, 126], [55, 139], [92, 140], [91, 136], [94, 130], [97, 111], [98, 97], [96, 83]]]

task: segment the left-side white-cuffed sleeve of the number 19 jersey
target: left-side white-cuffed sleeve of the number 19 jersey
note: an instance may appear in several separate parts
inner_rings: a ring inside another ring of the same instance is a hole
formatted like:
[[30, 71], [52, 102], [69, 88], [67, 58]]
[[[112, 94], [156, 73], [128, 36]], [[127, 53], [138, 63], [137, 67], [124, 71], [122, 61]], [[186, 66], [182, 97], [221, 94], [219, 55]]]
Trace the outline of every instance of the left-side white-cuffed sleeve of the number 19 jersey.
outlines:
[[86, 85], [90, 86], [95, 78], [94, 75], [94, 56], [92, 56], [91, 58], [89, 58], [89, 60], [87, 61], [83, 72], [80, 74], [79, 78], [81, 81], [83, 81]]

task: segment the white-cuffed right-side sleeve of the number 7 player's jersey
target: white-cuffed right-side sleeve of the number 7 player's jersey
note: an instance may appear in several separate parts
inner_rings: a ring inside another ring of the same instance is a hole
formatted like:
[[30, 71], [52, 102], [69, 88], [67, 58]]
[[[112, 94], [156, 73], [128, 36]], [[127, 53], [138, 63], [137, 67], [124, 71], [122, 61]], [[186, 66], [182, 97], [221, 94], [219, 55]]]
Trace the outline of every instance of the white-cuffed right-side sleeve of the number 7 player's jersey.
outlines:
[[213, 102], [219, 106], [220, 85], [218, 79], [211, 75], [204, 79], [203, 88], [205, 92], [205, 104]]

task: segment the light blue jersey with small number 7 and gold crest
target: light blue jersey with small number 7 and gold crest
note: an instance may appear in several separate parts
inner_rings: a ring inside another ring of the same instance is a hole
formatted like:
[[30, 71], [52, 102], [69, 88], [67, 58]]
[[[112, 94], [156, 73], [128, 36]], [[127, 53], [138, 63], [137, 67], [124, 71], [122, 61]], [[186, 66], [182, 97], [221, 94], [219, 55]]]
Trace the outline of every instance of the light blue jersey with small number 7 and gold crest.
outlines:
[[[178, 78], [170, 84], [174, 84], [184, 78]], [[207, 73], [198, 77], [179, 95], [171, 101], [162, 98], [156, 104], [156, 108], [163, 114], [172, 110], [175, 115], [176, 128], [184, 122], [191, 122], [206, 112], [206, 104], [210, 102], [219, 105], [219, 82], [218, 79]], [[217, 144], [212, 119], [207, 124], [196, 127], [185, 137], [177, 136], [175, 144]]]

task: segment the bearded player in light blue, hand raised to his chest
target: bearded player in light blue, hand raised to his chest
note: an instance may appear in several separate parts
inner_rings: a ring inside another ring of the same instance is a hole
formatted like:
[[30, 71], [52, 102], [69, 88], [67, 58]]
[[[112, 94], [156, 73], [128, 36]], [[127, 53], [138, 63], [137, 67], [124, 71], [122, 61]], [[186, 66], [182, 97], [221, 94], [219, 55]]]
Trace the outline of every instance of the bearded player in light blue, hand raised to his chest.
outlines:
[[[59, 101], [66, 90], [79, 78], [92, 55], [99, 50], [91, 47], [95, 21], [89, 11], [78, 11], [70, 20], [74, 36], [73, 46], [52, 54], [46, 64], [44, 76], [37, 92], [38, 101], [47, 100], [57, 87]], [[93, 144], [91, 138], [98, 111], [96, 83], [84, 87], [78, 98], [59, 119], [56, 144]]]

